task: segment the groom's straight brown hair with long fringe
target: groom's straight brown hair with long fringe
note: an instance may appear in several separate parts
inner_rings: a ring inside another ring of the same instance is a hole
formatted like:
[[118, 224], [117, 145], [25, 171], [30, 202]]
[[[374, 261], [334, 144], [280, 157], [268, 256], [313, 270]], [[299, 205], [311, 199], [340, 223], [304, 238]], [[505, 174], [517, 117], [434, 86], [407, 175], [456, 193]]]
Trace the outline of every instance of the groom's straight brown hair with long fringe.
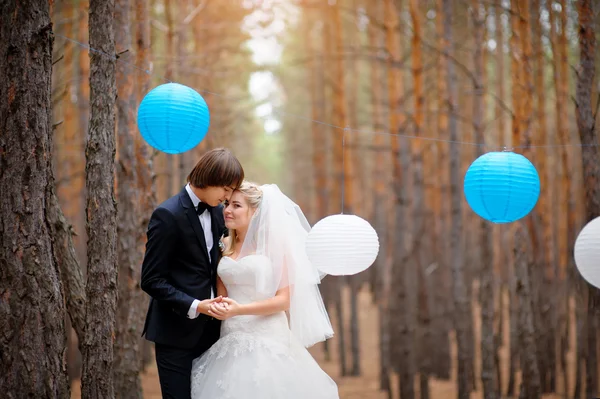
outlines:
[[194, 187], [238, 188], [244, 181], [244, 168], [226, 148], [215, 148], [205, 152], [187, 178]]

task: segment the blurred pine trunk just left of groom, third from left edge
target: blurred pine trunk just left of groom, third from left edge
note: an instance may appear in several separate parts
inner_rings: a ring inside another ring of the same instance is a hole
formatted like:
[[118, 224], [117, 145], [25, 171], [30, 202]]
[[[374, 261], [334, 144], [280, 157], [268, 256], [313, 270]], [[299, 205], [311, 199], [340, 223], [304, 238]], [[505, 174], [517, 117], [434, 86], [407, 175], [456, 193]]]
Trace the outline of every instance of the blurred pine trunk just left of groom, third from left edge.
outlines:
[[[131, 47], [129, 0], [115, 5], [116, 42], [119, 52]], [[114, 347], [115, 394], [120, 398], [142, 398], [141, 330], [145, 305], [140, 289], [139, 201], [134, 134], [136, 108], [131, 64], [117, 64], [117, 256], [119, 267], [116, 335]]]

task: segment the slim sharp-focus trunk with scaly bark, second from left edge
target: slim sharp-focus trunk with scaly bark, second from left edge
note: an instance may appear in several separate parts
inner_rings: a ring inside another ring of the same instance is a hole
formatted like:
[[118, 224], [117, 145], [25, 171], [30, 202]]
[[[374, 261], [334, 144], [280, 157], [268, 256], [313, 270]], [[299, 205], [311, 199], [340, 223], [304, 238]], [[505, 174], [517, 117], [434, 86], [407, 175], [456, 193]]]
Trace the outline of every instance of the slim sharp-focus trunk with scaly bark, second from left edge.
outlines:
[[90, 0], [90, 123], [86, 144], [88, 273], [82, 398], [110, 399], [117, 307], [114, 0]]

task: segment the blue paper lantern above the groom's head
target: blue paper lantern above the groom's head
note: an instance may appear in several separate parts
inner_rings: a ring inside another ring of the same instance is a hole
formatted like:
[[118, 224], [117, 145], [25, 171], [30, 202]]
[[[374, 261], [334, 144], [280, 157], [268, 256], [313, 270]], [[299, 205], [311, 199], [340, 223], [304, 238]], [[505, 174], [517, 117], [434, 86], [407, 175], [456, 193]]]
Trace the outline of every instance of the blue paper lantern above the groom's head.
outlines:
[[138, 128], [148, 144], [168, 154], [191, 150], [206, 136], [210, 114], [198, 92], [179, 83], [152, 89], [138, 109]]

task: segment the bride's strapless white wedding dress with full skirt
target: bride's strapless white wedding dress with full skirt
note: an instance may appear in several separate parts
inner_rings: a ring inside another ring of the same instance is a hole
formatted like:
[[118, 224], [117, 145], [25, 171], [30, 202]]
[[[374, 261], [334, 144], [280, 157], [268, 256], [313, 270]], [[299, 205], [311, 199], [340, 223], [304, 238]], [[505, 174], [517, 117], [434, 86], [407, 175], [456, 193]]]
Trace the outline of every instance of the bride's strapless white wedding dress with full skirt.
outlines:
[[[256, 273], [271, 273], [267, 257], [223, 257], [218, 275], [240, 304], [262, 298]], [[193, 399], [337, 399], [335, 382], [294, 337], [284, 312], [223, 321], [221, 338], [192, 367]]]

